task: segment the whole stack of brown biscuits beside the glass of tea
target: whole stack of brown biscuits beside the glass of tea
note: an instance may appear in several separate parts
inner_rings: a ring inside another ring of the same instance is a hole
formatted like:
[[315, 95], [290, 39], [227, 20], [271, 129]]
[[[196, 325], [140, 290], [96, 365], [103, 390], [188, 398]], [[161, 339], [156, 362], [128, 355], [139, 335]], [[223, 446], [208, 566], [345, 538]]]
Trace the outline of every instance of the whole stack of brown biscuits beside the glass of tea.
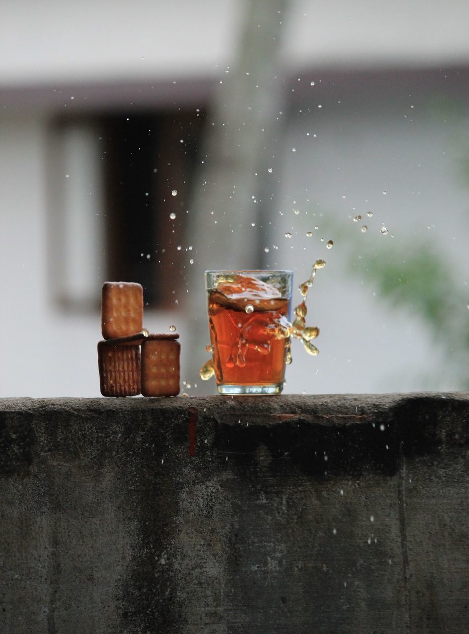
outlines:
[[103, 396], [177, 396], [179, 335], [151, 335], [143, 327], [143, 287], [103, 285], [102, 332], [97, 344]]

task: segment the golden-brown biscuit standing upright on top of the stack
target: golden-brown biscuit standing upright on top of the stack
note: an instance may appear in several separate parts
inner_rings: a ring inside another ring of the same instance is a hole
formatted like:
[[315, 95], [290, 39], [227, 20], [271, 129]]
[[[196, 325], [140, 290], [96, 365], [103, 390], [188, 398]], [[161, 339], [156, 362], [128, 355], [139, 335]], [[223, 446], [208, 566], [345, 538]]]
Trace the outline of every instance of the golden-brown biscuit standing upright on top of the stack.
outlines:
[[127, 281], [103, 284], [101, 327], [104, 339], [125, 337], [143, 328], [143, 287]]

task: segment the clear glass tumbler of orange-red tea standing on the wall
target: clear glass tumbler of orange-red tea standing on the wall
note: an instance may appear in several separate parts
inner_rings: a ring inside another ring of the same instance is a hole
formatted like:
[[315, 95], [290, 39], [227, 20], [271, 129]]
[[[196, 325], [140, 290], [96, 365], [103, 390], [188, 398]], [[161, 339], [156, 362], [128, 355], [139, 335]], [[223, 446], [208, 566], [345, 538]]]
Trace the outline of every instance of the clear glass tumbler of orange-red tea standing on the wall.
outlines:
[[291, 335], [292, 271], [206, 271], [220, 394], [280, 394]]

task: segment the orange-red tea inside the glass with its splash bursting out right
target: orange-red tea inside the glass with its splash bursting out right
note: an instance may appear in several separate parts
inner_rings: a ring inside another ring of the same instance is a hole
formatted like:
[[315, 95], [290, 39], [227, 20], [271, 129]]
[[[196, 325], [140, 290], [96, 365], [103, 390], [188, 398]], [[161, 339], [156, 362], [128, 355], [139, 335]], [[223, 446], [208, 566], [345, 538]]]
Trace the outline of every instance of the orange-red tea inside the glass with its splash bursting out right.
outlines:
[[306, 326], [306, 298], [316, 271], [324, 266], [325, 261], [316, 260], [310, 278], [299, 285], [303, 301], [294, 309], [293, 323], [287, 316], [289, 302], [275, 287], [244, 275], [220, 279], [209, 292], [211, 346], [207, 349], [213, 357], [201, 367], [200, 377], [206, 381], [216, 375], [219, 381], [241, 383], [246, 380], [248, 356], [249, 382], [265, 382], [266, 368], [270, 382], [281, 382], [285, 363], [292, 362], [292, 337], [300, 339], [309, 354], [318, 354], [311, 340], [318, 337], [319, 328]]

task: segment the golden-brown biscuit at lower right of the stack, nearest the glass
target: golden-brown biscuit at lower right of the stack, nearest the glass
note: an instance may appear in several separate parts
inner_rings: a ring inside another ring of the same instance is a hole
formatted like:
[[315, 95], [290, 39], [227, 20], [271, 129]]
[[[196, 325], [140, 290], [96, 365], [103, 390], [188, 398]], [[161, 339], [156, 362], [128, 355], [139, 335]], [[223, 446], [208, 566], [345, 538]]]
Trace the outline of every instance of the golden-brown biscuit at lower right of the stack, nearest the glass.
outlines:
[[[151, 335], [150, 335], [151, 337]], [[177, 396], [179, 394], [180, 344], [175, 335], [146, 339], [142, 342], [143, 396]]]

